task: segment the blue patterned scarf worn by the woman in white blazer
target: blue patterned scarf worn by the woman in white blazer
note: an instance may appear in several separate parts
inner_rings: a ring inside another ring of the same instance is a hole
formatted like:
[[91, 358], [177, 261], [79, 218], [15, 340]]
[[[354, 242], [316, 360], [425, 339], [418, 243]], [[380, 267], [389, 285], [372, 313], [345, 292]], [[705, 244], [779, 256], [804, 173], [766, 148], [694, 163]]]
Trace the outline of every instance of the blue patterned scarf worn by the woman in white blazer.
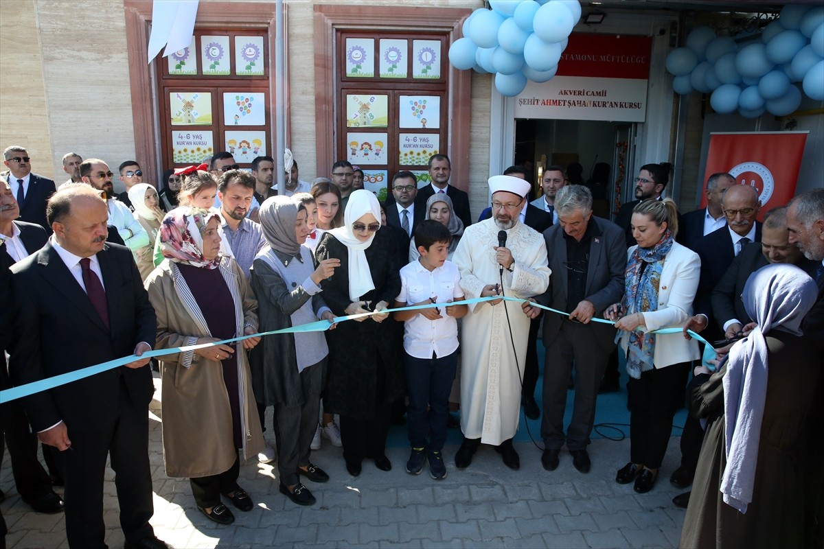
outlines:
[[[624, 281], [624, 306], [626, 314], [647, 313], [658, 310], [658, 285], [664, 258], [672, 249], [672, 233], [669, 229], [661, 235], [652, 248], [636, 247], [626, 265]], [[644, 267], [645, 264], [645, 267]], [[630, 333], [629, 356], [626, 371], [630, 377], [640, 379], [641, 372], [653, 369], [655, 336], [639, 328]]]

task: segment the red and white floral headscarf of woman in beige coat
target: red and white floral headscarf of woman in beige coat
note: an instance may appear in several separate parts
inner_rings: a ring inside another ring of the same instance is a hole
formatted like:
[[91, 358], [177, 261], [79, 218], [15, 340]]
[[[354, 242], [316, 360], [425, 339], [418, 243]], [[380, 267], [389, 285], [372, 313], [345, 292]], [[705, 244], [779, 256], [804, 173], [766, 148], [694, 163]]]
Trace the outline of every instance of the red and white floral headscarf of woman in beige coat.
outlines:
[[167, 213], [160, 227], [163, 257], [192, 267], [217, 268], [221, 261], [220, 254], [210, 261], [204, 261], [203, 254], [203, 232], [212, 218], [220, 224], [218, 212], [199, 207], [176, 207]]

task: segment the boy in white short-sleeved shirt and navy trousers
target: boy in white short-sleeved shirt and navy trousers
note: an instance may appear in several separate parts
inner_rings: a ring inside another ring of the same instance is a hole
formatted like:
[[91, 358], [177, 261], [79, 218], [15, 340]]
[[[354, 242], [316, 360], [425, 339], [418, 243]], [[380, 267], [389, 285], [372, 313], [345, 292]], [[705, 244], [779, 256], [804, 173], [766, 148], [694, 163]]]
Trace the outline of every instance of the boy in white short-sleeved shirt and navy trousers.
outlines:
[[[414, 231], [420, 257], [400, 269], [396, 307], [463, 300], [461, 272], [447, 261], [450, 240], [452, 235], [439, 221], [420, 222]], [[435, 480], [447, 477], [441, 451], [447, 440], [449, 393], [457, 366], [456, 319], [468, 310], [466, 305], [450, 305], [395, 313], [395, 319], [405, 323], [406, 417], [412, 446], [406, 472], [410, 474], [419, 474], [428, 458], [429, 475]]]

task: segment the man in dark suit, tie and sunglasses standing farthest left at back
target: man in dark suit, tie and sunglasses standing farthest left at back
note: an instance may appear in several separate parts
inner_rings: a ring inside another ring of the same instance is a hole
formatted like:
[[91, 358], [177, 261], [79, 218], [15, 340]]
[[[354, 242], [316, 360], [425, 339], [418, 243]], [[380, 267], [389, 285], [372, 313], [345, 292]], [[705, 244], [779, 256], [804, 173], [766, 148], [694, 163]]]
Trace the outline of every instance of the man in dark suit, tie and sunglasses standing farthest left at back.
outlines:
[[20, 206], [21, 221], [36, 223], [51, 233], [46, 222], [46, 201], [54, 194], [54, 181], [31, 173], [31, 159], [23, 147], [6, 147], [3, 164], [8, 167], [6, 180]]

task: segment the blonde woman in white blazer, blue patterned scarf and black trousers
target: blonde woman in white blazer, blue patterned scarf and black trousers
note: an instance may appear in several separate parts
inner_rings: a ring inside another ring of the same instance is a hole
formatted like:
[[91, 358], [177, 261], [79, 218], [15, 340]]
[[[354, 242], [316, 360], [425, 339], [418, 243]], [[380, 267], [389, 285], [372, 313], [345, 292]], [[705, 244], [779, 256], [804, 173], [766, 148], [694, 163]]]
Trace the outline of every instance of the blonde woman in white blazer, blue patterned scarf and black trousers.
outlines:
[[616, 320], [616, 339], [630, 375], [630, 463], [618, 471], [616, 482], [634, 481], [640, 494], [655, 485], [672, 418], [684, 401], [690, 363], [699, 357], [698, 343], [684, 339], [680, 331], [651, 333], [681, 328], [692, 314], [701, 262], [698, 254], [675, 242], [677, 229], [672, 199], [645, 200], [634, 207], [638, 245], [628, 250], [624, 299], [606, 309], [606, 318]]

